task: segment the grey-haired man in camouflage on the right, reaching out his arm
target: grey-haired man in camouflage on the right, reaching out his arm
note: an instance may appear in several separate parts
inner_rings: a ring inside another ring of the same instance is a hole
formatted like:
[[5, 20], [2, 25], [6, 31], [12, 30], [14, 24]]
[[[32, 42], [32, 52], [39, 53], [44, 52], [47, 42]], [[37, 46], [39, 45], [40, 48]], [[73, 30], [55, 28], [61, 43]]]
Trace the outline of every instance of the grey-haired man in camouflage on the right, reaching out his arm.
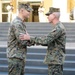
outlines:
[[[47, 46], [47, 54], [44, 63], [48, 65], [48, 75], [63, 75], [63, 63], [65, 59], [66, 29], [59, 21], [60, 9], [50, 7], [46, 13], [48, 20], [54, 29], [44, 37], [35, 37], [35, 43]], [[32, 40], [30, 36], [20, 36], [22, 40]]]

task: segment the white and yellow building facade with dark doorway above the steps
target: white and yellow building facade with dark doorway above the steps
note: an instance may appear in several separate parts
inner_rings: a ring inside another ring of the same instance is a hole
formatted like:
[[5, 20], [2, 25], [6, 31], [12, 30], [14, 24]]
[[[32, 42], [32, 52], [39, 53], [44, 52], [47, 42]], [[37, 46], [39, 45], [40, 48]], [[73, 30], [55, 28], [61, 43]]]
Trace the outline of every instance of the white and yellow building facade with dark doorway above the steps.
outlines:
[[[39, 22], [38, 8], [40, 5], [45, 9], [44, 14], [51, 6], [60, 8], [60, 21], [62, 22], [75, 20], [75, 0], [0, 0], [0, 22], [10, 22], [17, 15], [17, 7], [20, 2], [29, 2], [34, 9], [28, 22]], [[48, 22], [46, 16], [45, 22]]]

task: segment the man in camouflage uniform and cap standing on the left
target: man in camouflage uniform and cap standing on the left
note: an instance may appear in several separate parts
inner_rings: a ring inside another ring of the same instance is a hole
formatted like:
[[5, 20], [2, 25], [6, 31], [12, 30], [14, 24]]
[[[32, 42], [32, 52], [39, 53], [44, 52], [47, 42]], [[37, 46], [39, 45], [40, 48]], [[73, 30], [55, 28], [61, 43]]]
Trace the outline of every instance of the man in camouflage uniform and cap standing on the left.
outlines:
[[8, 75], [24, 75], [27, 46], [32, 45], [32, 43], [20, 40], [19, 35], [27, 33], [24, 21], [29, 18], [32, 10], [29, 4], [19, 4], [19, 14], [9, 27], [7, 43]]

